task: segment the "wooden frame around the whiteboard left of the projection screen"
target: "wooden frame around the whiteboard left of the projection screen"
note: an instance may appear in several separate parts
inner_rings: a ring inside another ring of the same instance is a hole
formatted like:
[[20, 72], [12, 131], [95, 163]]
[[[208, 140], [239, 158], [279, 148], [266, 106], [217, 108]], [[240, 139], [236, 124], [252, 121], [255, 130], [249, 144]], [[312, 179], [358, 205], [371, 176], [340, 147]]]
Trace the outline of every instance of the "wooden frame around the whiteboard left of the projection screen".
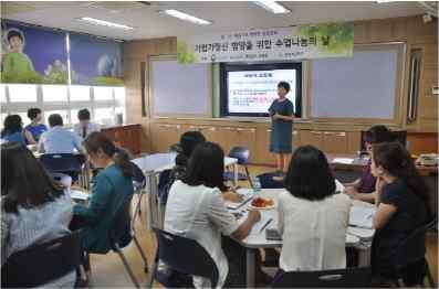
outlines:
[[[153, 119], [163, 119], [163, 118], [178, 118], [178, 117], [190, 117], [190, 118], [211, 118], [213, 117], [213, 111], [212, 111], [212, 97], [213, 97], [213, 88], [212, 88], [212, 65], [209, 64], [209, 68], [208, 68], [208, 113], [207, 114], [156, 114], [154, 111], [154, 83], [153, 83], [153, 62], [157, 62], [157, 61], [177, 61], [177, 55], [173, 54], [173, 55], [151, 55], [147, 58], [148, 62], [148, 73], [147, 73], [147, 77], [148, 77], [148, 113], [149, 116]], [[190, 64], [188, 64], [190, 65]]]

